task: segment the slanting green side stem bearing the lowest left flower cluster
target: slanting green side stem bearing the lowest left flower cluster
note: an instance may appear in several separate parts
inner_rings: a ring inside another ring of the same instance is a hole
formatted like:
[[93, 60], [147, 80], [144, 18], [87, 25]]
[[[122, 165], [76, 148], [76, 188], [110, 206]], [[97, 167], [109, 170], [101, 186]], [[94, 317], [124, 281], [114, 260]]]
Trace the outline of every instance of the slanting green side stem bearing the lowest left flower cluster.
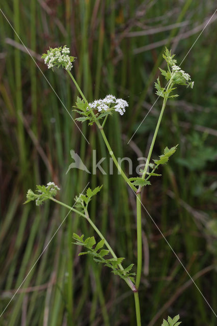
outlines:
[[[96, 233], [99, 235], [99, 237], [101, 239], [104, 240], [104, 243], [105, 243], [105, 246], [107, 247], [107, 249], [111, 252], [111, 255], [113, 256], [113, 258], [117, 259], [117, 256], [116, 254], [114, 253], [112, 247], [110, 246], [110, 244], [107, 242], [107, 240], [105, 239], [105, 237], [102, 235], [102, 233], [99, 231], [99, 229], [97, 228], [97, 226], [93, 223], [93, 221], [90, 219], [89, 217], [89, 214], [87, 212], [87, 210], [85, 211], [85, 214], [83, 214], [82, 212], [80, 212], [79, 210], [63, 203], [63, 202], [60, 202], [59, 200], [55, 199], [55, 198], [52, 198], [52, 197], [49, 197], [50, 200], [52, 200], [53, 202], [56, 202], [68, 209], [70, 209], [70, 211], [74, 211], [75, 213], [77, 213], [78, 215], [82, 216], [83, 218], [85, 218], [89, 223], [90, 225], [92, 226], [92, 228], [96, 231]], [[121, 264], [118, 264], [119, 268], [121, 270], [124, 270], [123, 266]], [[134, 284], [132, 283], [132, 281], [129, 279], [129, 278], [126, 278], [124, 279], [124, 281], [127, 283], [127, 285], [130, 287], [130, 289], [135, 292], [136, 289], [135, 289], [135, 286]]]

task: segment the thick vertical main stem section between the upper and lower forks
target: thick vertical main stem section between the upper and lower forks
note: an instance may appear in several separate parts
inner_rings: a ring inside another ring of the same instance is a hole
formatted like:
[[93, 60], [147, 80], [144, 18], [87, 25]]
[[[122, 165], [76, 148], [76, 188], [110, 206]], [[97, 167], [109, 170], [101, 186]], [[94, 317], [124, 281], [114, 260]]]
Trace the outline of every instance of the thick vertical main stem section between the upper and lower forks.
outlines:
[[137, 278], [135, 287], [139, 289], [142, 273], [142, 220], [141, 220], [141, 194], [137, 195]]

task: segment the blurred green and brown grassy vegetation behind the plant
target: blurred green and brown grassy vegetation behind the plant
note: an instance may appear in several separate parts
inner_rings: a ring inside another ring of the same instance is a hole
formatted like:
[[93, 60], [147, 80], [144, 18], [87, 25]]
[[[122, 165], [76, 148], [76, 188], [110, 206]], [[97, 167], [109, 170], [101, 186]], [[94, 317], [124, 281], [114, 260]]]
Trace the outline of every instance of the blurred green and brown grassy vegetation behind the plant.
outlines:
[[[121, 176], [115, 169], [114, 175], [75, 169], [66, 175], [71, 149], [90, 170], [93, 149], [97, 159], [106, 157], [105, 171], [109, 157], [95, 127], [79, 124], [88, 145], [58, 99], [71, 113], [77, 92], [66, 72], [49, 71], [40, 59], [49, 46], [65, 44], [77, 57], [72, 73], [90, 101], [112, 93], [129, 102], [123, 117], [108, 119], [105, 132], [115, 154], [130, 157], [134, 167], [137, 157], [147, 154], [161, 99], [127, 142], [157, 98], [153, 84], [158, 67], [164, 66], [165, 45], [176, 53], [178, 64], [187, 55], [182, 69], [195, 87], [180, 88], [180, 96], [168, 102], [152, 158], [166, 146], [179, 147], [161, 169], [162, 177], [143, 192], [143, 203], [216, 311], [216, 14], [197, 40], [215, 11], [214, 2], [2, 0], [1, 10], [1, 313], [28, 277], [0, 324], [135, 325], [126, 284], [110, 270], [77, 257], [72, 232], [94, 234], [85, 221], [70, 214], [52, 238], [68, 211], [48, 202], [22, 205], [36, 184], [55, 181], [60, 200], [68, 205], [88, 181], [92, 188], [103, 184], [90, 216], [116, 254], [126, 257], [126, 264], [136, 262], [135, 198]], [[143, 325], [160, 325], [162, 318], [178, 313], [183, 325], [216, 325], [145, 209], [142, 213]]]

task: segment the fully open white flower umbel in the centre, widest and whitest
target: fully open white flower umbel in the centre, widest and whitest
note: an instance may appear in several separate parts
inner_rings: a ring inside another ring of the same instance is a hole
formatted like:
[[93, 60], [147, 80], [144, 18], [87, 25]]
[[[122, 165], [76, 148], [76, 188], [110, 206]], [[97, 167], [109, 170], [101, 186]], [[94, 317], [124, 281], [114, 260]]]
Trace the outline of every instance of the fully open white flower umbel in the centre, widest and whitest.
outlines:
[[114, 95], [110, 94], [106, 95], [103, 99], [98, 99], [89, 103], [89, 106], [98, 110], [98, 112], [114, 109], [123, 116], [124, 112], [126, 112], [125, 108], [128, 106], [128, 103], [122, 98], [116, 98]]

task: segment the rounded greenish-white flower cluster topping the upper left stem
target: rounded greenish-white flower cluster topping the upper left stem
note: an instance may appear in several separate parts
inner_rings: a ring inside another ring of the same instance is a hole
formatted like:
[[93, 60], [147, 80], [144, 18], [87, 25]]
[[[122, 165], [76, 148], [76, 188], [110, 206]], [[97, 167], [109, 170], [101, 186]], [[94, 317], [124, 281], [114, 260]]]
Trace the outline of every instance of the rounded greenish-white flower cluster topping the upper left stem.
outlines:
[[53, 68], [55, 66], [63, 66], [66, 70], [71, 70], [72, 62], [74, 61], [74, 57], [69, 56], [70, 50], [64, 45], [64, 47], [56, 47], [54, 49], [50, 48], [47, 53], [42, 55], [45, 64], [48, 68]]

